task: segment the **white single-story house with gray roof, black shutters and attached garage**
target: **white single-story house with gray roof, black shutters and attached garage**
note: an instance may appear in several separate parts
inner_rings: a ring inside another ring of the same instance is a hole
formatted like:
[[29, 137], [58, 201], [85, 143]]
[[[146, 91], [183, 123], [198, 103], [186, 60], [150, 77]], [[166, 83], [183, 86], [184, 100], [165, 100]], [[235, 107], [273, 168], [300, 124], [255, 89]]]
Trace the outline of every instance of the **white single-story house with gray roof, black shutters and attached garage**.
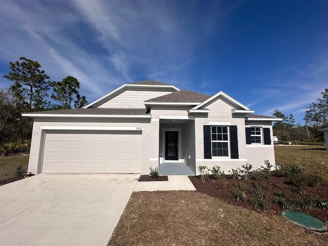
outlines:
[[222, 91], [125, 84], [81, 109], [23, 114], [34, 118], [28, 171], [149, 174], [163, 160], [198, 175], [198, 166], [274, 165], [272, 121], [281, 119], [253, 113]]

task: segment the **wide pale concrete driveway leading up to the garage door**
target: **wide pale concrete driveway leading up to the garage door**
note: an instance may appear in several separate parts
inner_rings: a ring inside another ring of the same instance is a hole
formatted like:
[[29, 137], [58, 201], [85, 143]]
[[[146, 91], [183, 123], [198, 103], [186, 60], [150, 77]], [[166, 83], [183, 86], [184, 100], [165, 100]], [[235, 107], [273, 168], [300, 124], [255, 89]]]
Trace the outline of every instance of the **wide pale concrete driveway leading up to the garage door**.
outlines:
[[38, 174], [0, 186], [0, 244], [105, 246], [138, 177]]

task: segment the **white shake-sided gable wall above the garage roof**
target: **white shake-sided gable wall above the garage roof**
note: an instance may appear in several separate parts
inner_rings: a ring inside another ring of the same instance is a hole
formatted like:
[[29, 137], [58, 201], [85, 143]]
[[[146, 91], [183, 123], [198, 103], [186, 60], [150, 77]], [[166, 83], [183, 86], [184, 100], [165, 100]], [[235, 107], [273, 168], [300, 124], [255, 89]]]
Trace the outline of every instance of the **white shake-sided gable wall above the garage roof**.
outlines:
[[167, 95], [171, 91], [126, 90], [98, 108], [146, 108], [144, 101]]

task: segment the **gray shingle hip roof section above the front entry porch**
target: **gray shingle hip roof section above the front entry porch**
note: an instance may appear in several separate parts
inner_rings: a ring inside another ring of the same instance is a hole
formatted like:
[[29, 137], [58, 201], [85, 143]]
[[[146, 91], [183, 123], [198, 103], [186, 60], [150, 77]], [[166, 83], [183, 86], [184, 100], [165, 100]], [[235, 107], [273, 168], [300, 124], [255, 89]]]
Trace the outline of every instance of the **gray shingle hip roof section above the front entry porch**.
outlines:
[[147, 103], [202, 103], [211, 96], [193, 91], [180, 90], [147, 100]]

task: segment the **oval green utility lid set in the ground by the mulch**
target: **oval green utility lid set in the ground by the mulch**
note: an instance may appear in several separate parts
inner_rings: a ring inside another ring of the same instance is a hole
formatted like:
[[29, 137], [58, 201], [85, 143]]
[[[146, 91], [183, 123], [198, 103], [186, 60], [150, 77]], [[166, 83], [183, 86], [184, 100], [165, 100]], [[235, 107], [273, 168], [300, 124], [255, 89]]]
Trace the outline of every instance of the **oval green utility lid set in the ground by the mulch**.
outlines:
[[327, 226], [321, 220], [318, 220], [315, 217], [312, 217], [308, 214], [300, 213], [297, 211], [282, 211], [281, 215], [292, 221], [294, 224], [298, 226], [304, 227], [306, 229], [310, 229], [316, 232], [325, 232], [327, 231]]

